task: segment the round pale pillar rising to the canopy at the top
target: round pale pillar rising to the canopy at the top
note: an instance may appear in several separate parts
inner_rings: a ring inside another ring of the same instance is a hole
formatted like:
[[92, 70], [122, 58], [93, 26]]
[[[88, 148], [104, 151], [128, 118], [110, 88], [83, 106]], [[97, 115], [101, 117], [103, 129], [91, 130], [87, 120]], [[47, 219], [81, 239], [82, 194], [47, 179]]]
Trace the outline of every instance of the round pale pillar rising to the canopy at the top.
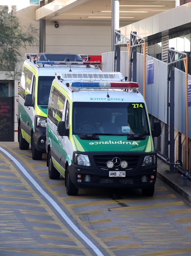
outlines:
[[111, 51], [114, 51], [116, 29], [119, 29], [119, 0], [111, 0]]

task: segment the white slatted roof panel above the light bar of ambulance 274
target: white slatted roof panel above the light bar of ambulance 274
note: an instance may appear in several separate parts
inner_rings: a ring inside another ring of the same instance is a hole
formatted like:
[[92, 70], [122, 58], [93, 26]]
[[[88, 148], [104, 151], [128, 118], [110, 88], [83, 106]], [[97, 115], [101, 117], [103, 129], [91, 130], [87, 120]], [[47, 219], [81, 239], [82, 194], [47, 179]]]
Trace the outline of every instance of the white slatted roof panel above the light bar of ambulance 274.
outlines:
[[63, 78], [85, 78], [85, 79], [118, 79], [118, 74], [62, 74]]

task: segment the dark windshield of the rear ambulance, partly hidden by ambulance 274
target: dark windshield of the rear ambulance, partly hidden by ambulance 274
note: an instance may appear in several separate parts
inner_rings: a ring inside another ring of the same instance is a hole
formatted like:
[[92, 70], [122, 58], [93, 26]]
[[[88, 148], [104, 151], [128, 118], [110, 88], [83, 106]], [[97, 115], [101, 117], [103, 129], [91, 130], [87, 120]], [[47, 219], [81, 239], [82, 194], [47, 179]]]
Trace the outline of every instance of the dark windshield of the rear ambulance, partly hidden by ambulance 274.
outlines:
[[48, 105], [48, 100], [50, 96], [50, 90], [52, 81], [55, 76], [39, 76], [38, 77], [38, 105]]

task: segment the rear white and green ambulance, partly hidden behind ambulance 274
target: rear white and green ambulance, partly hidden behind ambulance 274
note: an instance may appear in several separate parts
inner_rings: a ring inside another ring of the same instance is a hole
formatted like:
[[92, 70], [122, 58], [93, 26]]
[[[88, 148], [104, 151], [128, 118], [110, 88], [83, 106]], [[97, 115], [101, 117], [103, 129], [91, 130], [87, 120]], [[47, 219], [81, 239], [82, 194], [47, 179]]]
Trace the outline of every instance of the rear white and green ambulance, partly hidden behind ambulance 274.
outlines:
[[48, 99], [55, 72], [63, 69], [60, 61], [82, 60], [74, 54], [26, 53], [25, 56], [19, 90], [18, 141], [20, 149], [29, 149], [31, 144], [32, 158], [39, 160], [46, 152]]

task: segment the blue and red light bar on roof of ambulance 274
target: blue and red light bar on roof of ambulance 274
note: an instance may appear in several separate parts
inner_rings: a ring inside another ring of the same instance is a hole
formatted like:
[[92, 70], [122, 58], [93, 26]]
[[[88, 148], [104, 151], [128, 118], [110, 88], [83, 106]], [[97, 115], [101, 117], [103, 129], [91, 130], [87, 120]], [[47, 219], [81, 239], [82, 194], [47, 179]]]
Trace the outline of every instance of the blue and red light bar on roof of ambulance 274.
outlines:
[[71, 89], [130, 89], [138, 90], [139, 85], [135, 82], [72, 82]]

